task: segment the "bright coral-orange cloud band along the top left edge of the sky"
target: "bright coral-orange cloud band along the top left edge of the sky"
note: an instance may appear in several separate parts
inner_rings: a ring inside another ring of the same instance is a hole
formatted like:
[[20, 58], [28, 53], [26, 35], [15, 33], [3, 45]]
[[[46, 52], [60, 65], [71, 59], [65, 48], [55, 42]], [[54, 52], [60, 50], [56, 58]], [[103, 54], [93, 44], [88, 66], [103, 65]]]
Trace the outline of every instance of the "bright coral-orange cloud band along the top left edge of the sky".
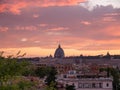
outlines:
[[[3, 0], [4, 1], [4, 0]], [[30, 7], [73, 6], [86, 0], [9, 0], [0, 4], [0, 12], [20, 14], [21, 9]]]

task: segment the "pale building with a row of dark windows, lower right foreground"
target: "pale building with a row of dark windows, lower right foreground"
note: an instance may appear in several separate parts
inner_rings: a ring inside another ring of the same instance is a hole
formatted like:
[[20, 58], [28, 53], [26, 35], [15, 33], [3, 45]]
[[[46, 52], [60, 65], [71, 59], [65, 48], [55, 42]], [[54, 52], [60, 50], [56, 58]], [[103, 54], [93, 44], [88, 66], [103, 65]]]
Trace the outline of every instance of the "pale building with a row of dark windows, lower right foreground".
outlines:
[[64, 87], [66, 85], [74, 85], [76, 90], [112, 90], [112, 78], [76, 78], [75, 71], [69, 72], [58, 77], [58, 83]]

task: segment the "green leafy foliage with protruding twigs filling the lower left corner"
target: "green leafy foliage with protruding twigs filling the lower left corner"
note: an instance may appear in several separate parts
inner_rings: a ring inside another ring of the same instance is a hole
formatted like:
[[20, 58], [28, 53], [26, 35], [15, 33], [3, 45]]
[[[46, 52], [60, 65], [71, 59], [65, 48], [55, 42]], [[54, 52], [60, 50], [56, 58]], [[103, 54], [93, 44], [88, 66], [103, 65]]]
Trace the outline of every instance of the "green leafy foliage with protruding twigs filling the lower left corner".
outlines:
[[28, 69], [29, 63], [21, 60], [18, 57], [20, 52], [13, 55], [3, 56], [3, 52], [0, 53], [0, 90], [29, 90], [25, 89], [31, 87], [30, 81], [21, 81], [22, 74]]

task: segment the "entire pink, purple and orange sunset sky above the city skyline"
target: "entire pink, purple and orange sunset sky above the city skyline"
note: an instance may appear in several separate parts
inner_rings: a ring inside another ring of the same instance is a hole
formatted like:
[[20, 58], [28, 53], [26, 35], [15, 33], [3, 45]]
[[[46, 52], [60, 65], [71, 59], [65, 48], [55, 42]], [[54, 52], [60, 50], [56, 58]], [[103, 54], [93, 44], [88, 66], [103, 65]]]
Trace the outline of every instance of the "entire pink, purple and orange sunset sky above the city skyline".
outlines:
[[27, 57], [120, 54], [120, 0], [0, 0], [0, 51]]

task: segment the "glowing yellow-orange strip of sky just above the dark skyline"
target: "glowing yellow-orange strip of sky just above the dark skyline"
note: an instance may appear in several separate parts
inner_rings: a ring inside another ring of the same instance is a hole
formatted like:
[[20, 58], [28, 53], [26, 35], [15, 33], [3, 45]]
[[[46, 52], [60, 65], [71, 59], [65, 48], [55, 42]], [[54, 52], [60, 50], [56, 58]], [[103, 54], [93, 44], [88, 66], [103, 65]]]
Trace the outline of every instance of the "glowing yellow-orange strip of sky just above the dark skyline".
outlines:
[[[2, 48], [0, 51], [4, 51], [3, 56], [13, 55], [15, 56], [19, 51], [21, 55], [26, 53], [24, 57], [46, 57], [54, 56], [56, 49], [41, 49], [40, 47], [28, 47], [28, 48]], [[94, 55], [106, 55], [109, 52], [111, 55], [120, 55], [120, 50], [76, 50], [76, 49], [64, 49], [65, 56], [94, 56]]]

